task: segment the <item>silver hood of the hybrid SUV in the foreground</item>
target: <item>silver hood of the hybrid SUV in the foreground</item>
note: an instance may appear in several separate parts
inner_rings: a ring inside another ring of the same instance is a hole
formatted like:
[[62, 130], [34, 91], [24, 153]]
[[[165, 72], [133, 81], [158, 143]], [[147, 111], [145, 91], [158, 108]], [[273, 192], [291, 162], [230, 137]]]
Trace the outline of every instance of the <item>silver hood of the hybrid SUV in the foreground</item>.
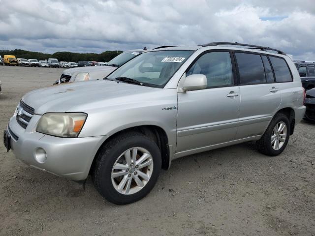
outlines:
[[115, 104], [137, 102], [135, 96], [160, 90], [157, 88], [117, 83], [114, 81], [88, 81], [50, 86], [28, 92], [22, 100], [35, 110], [35, 114], [47, 112], [87, 112], [91, 109]]

